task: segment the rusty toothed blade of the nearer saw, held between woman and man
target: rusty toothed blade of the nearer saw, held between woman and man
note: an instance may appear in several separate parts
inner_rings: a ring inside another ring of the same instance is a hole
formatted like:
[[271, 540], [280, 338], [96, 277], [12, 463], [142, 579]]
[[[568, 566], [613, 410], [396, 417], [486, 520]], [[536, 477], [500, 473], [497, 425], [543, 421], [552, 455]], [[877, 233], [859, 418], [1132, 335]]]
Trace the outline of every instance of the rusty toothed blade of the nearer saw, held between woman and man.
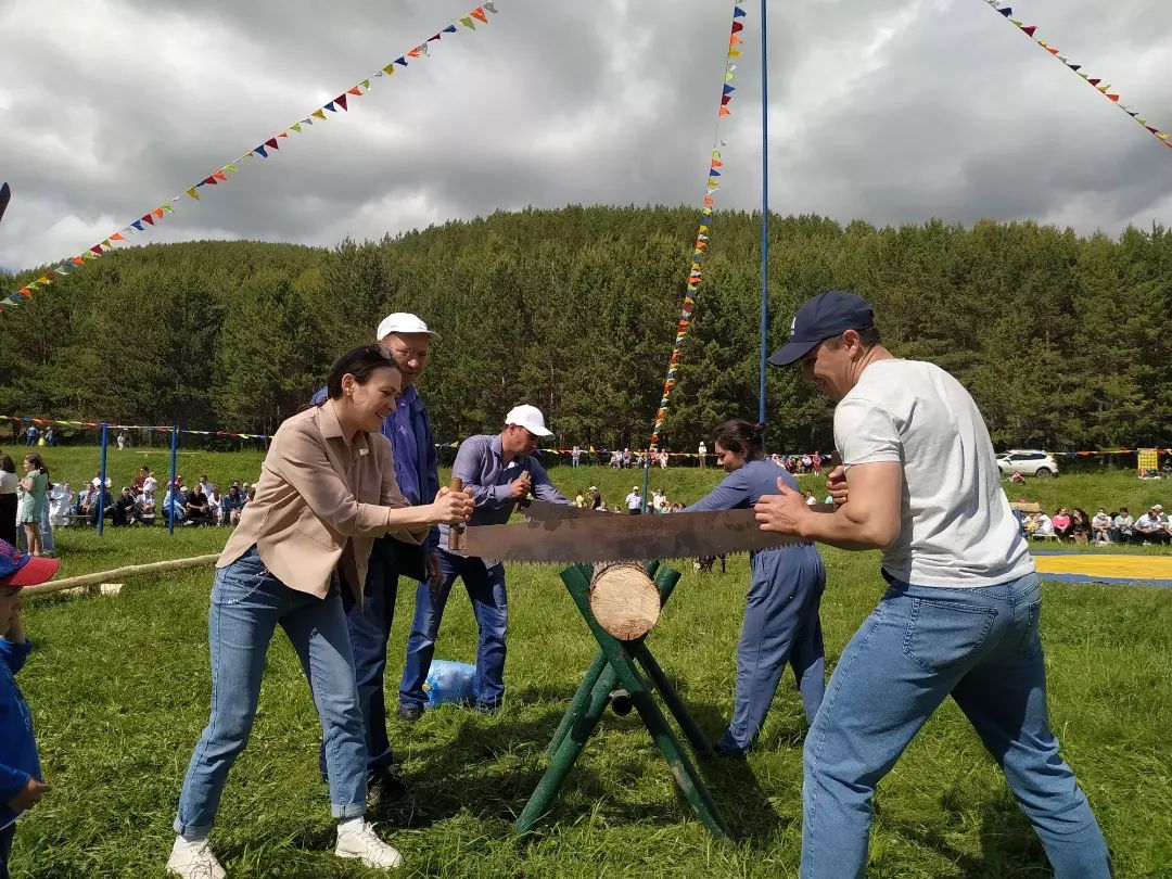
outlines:
[[752, 510], [478, 525], [466, 536], [469, 556], [546, 564], [704, 558], [805, 543], [762, 531]]

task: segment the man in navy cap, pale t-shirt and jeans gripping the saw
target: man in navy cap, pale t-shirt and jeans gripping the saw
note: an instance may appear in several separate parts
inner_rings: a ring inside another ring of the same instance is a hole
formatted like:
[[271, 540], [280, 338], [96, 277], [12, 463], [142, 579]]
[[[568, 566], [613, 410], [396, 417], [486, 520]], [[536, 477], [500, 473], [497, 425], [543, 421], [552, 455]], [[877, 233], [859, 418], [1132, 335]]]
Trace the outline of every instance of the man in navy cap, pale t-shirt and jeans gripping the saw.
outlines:
[[1000, 488], [968, 391], [879, 343], [871, 306], [831, 291], [806, 301], [774, 366], [838, 402], [836, 505], [778, 482], [762, 529], [883, 550], [891, 588], [843, 650], [806, 736], [802, 875], [861, 877], [879, 781], [952, 696], [1006, 772], [1057, 877], [1109, 877], [1110, 856], [1045, 707], [1034, 561]]

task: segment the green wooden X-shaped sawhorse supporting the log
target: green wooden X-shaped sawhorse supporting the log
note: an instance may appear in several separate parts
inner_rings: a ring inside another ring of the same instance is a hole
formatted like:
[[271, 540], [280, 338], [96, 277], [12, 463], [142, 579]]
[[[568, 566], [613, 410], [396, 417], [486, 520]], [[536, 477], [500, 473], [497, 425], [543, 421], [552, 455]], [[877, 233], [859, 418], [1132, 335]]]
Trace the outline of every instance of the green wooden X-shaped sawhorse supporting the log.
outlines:
[[[648, 577], [654, 577], [655, 586], [660, 593], [660, 604], [665, 604], [670, 597], [672, 590], [675, 588], [680, 573], [669, 567], [660, 568], [659, 561], [646, 563], [643, 570], [647, 571]], [[693, 811], [708, 829], [708, 832], [721, 839], [728, 838], [729, 833], [724, 820], [713, 804], [711, 796], [700, 778], [700, 774], [696, 772], [688, 755], [680, 745], [680, 740], [668, 725], [667, 718], [655, 701], [654, 693], [659, 691], [697, 754], [713, 756], [708, 738], [665, 676], [663, 669], [647, 649], [643, 639], [620, 641], [607, 633], [594, 619], [590, 606], [592, 575], [593, 568], [590, 565], [575, 565], [561, 572], [561, 580], [566, 584], [566, 588], [586, 620], [586, 625], [590, 626], [590, 631], [594, 633], [600, 649], [594, 655], [594, 662], [591, 663], [578, 693], [574, 694], [573, 702], [570, 703], [570, 708], [561, 718], [558, 731], [553, 734], [553, 740], [545, 749], [545, 756], [550, 758], [550, 768], [541, 776], [541, 781], [538, 782], [537, 789], [517, 819], [517, 838], [524, 839], [532, 834], [538, 822], [548, 812], [550, 805], [573, 768], [574, 761], [578, 759], [578, 755], [582, 752], [586, 742], [594, 732], [594, 728], [598, 727], [602, 713], [614, 700], [621, 700], [622, 703], [633, 706], [639, 711], [647, 731], [650, 732], [663, 755], [663, 759], [667, 761], [676, 784], [680, 785]], [[642, 666], [649, 680], [645, 680], [639, 673], [635, 660]]]

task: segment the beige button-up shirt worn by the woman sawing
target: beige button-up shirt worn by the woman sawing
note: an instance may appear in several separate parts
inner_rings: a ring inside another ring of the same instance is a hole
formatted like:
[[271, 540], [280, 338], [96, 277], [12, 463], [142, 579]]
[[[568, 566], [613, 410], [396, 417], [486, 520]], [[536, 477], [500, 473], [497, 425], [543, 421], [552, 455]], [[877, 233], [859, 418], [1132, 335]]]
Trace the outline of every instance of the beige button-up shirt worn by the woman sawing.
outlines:
[[[327, 400], [277, 429], [255, 497], [216, 566], [227, 567], [255, 544], [265, 566], [291, 590], [325, 598], [336, 567], [361, 604], [370, 546], [388, 532], [388, 507], [407, 505], [390, 441], [366, 431], [347, 441]], [[391, 531], [414, 544], [427, 532]]]

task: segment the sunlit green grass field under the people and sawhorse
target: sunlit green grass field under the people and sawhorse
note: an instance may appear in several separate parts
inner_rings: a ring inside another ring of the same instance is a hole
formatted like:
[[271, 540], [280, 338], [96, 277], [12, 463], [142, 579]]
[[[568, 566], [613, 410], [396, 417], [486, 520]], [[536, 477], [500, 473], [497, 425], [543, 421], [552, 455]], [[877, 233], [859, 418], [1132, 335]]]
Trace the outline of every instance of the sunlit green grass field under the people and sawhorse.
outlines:
[[[91, 472], [88, 450], [50, 450], [54, 478]], [[76, 457], [75, 457], [76, 456]], [[111, 455], [132, 475], [137, 452]], [[184, 475], [220, 484], [252, 481], [259, 455], [195, 455]], [[155, 462], [152, 466], [165, 463]], [[641, 473], [559, 468], [567, 492], [599, 485], [621, 503]], [[695, 499], [718, 472], [670, 469], [653, 486]], [[114, 475], [117, 485], [122, 477]], [[820, 491], [812, 477], [810, 488]], [[1167, 483], [1127, 473], [1030, 481], [1048, 507], [1091, 511], [1159, 499]], [[1168, 499], [1172, 499], [1170, 497]], [[212, 552], [226, 530], [62, 530], [63, 573]], [[823, 601], [831, 666], [874, 606], [884, 582], [875, 553], [824, 550]], [[735, 647], [748, 585], [744, 558], [727, 574], [683, 578], [649, 645], [701, 725], [717, 736], [732, 700]], [[52, 795], [16, 837], [16, 877], [162, 875], [170, 823], [210, 697], [209, 570], [132, 580], [117, 599], [30, 600], [38, 643], [21, 682], [33, 708]], [[509, 571], [512, 611], [507, 696], [498, 717], [443, 708], [393, 741], [414, 791], [409, 806], [374, 816], [430, 877], [796, 875], [800, 847], [804, 721], [792, 679], [783, 681], [747, 763], [702, 772], [736, 839], [714, 843], [690, 817], [657, 750], [632, 715], [608, 715], [557, 800], [545, 832], [518, 847], [512, 823], [544, 771], [541, 750], [590, 663], [594, 641], [554, 568]], [[402, 668], [413, 591], [404, 590], [390, 648]], [[1045, 586], [1043, 639], [1049, 701], [1063, 752], [1103, 824], [1119, 875], [1172, 875], [1172, 591]], [[466, 600], [450, 602], [437, 656], [475, 657]], [[292, 649], [278, 638], [252, 743], [224, 797], [216, 850], [240, 877], [375, 877], [336, 861], [328, 797], [316, 775], [318, 722]], [[1044, 877], [1044, 856], [994, 763], [950, 703], [932, 720], [880, 788], [870, 874]]]

